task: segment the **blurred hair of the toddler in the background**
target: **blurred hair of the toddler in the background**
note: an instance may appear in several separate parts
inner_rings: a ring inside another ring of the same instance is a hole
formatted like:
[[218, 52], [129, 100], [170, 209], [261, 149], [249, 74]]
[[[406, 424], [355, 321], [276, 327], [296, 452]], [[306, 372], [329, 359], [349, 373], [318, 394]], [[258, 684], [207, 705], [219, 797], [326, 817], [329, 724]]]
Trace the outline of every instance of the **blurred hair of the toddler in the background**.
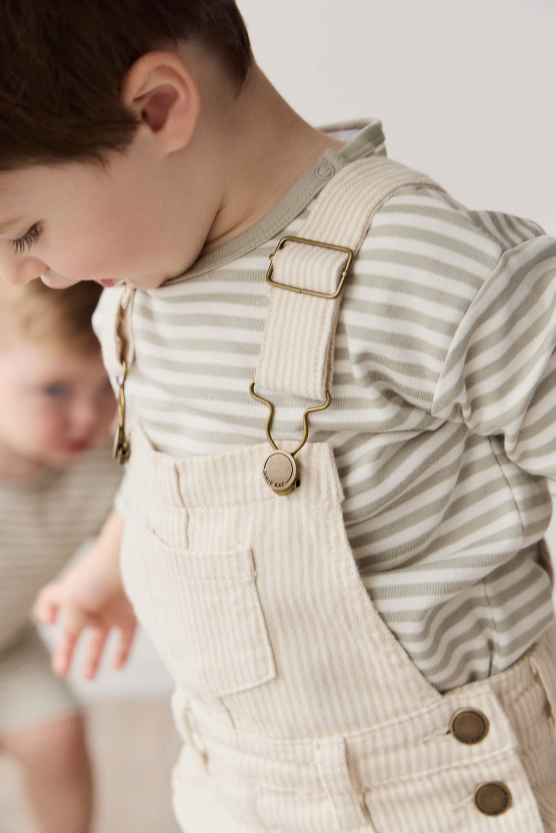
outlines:
[[14, 333], [30, 342], [55, 342], [72, 352], [98, 352], [91, 319], [101, 292], [91, 281], [50, 289], [42, 281], [13, 286], [0, 278], [0, 345], [9, 344]]

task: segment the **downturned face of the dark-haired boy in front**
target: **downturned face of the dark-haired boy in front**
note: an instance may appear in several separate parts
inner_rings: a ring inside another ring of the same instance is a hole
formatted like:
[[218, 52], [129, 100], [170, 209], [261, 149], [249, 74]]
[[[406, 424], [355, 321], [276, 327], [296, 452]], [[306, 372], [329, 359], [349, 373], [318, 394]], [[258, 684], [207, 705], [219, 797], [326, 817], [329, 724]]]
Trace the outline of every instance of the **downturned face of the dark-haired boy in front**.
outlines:
[[168, 159], [142, 135], [108, 167], [0, 172], [0, 277], [42, 277], [56, 289], [79, 281], [158, 287], [197, 259], [206, 238], [199, 217], [198, 199], [180, 192]]

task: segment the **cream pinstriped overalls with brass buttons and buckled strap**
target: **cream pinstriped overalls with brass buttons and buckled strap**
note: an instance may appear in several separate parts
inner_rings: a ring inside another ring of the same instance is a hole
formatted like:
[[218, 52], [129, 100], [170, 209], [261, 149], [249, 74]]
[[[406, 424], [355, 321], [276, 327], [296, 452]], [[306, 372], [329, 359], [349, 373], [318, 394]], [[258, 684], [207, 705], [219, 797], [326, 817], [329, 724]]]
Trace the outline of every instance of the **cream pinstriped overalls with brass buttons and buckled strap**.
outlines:
[[[353, 162], [278, 247], [253, 392], [328, 402], [349, 260], [409, 184], [438, 187]], [[440, 694], [360, 580], [331, 447], [285, 445], [178, 459], [131, 437], [123, 580], [177, 684], [184, 833], [556, 831], [554, 628]]]

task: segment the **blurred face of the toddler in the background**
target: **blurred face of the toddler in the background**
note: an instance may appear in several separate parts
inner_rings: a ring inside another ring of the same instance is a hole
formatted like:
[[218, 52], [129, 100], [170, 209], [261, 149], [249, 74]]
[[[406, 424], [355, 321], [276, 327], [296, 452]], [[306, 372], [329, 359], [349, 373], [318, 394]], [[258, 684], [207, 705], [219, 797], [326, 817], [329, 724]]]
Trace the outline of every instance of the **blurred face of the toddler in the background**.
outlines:
[[100, 352], [13, 336], [0, 348], [0, 449], [48, 466], [106, 438], [116, 405]]

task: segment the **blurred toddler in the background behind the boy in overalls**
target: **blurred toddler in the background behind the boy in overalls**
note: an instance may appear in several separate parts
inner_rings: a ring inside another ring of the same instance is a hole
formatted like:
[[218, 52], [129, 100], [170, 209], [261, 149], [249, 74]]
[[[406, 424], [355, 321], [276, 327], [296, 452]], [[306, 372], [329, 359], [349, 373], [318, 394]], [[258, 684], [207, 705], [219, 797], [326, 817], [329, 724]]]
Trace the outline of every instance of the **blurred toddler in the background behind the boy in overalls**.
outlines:
[[91, 326], [98, 294], [0, 287], [0, 752], [23, 767], [40, 833], [86, 833], [91, 821], [83, 719], [29, 611], [98, 533], [118, 487], [113, 392]]

